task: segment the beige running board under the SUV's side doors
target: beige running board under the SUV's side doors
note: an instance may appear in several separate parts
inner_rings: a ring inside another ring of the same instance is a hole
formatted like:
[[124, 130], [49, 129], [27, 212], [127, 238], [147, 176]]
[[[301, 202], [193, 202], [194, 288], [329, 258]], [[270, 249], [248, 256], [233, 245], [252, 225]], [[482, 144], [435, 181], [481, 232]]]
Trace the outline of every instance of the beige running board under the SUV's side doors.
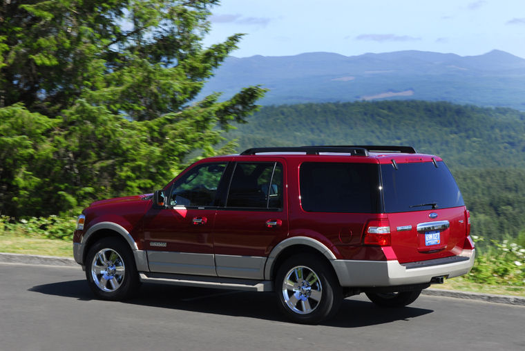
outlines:
[[196, 286], [200, 288], [216, 288], [247, 291], [274, 291], [271, 281], [249, 279], [207, 277], [202, 275], [169, 274], [139, 272], [140, 281], [144, 283], [159, 283], [169, 285]]

